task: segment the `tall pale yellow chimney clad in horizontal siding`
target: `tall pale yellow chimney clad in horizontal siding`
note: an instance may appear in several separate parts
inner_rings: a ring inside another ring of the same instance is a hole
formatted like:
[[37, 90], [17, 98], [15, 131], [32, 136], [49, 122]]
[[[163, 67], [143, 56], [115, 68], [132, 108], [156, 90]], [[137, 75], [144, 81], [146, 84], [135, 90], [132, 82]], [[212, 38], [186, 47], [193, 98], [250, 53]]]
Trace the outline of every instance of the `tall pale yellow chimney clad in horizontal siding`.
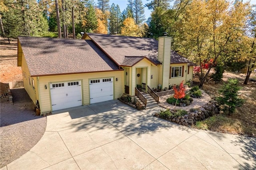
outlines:
[[161, 84], [162, 89], [169, 87], [171, 42], [170, 37], [158, 38], [158, 61], [162, 63], [158, 68], [158, 84]]

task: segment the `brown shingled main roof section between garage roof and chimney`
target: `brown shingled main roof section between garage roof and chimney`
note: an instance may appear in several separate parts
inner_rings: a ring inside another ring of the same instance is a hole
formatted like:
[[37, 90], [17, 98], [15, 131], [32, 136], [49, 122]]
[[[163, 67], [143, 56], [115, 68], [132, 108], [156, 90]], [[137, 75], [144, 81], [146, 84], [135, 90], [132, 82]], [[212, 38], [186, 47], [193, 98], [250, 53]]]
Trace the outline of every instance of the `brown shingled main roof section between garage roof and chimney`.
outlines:
[[158, 61], [158, 41], [152, 38], [117, 36], [109, 34], [86, 33], [118, 65], [126, 65], [127, 56], [146, 56], [155, 64]]

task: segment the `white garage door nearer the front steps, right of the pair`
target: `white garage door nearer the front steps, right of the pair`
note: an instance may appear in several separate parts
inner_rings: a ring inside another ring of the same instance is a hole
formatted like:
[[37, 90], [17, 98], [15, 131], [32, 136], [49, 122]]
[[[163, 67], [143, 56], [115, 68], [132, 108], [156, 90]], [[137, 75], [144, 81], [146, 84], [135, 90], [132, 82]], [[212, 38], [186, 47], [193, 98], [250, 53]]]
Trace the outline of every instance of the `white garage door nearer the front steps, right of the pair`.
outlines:
[[94, 79], [90, 84], [90, 103], [113, 100], [113, 78]]

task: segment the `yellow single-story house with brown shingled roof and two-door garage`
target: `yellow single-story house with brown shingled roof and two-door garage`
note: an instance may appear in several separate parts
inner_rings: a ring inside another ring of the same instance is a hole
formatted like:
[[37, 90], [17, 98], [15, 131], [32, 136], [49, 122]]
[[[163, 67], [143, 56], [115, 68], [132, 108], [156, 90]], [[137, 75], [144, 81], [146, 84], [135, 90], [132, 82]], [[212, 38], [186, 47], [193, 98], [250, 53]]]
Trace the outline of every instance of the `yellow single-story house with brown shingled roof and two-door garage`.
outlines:
[[171, 38], [86, 33], [82, 40], [18, 37], [24, 88], [41, 114], [114, 100], [192, 80], [191, 62]]

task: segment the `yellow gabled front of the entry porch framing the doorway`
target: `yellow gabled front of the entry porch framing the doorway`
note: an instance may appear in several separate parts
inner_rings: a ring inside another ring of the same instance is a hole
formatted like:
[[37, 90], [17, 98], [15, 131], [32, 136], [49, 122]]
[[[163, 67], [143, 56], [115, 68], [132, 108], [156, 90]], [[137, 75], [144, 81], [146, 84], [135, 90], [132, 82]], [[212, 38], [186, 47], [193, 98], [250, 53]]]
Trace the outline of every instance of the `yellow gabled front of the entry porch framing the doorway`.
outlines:
[[[135, 87], [136, 87], [136, 68], [144, 68], [144, 70], [146, 70], [146, 85], [150, 85], [150, 66], [151, 66], [151, 62], [148, 61], [147, 59], [143, 59], [142, 61], [138, 62], [137, 64], [135, 64], [132, 68], [131, 68], [131, 85], [130, 85], [130, 95], [134, 96], [135, 95]], [[146, 69], [147, 68], [147, 69]], [[148, 72], [148, 73], [147, 73]], [[147, 90], [147, 87], [146, 87]]]

